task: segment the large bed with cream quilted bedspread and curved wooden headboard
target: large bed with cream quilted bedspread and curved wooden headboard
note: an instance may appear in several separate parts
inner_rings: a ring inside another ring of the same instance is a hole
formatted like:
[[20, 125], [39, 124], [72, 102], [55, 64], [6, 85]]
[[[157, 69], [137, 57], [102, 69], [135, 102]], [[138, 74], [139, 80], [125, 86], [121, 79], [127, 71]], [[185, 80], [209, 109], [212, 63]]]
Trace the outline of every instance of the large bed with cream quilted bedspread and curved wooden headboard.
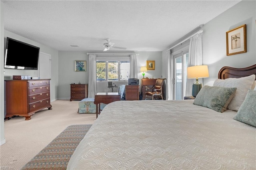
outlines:
[[[248, 109], [245, 104], [249, 91], [254, 93], [249, 89], [255, 86], [255, 73], [256, 65], [244, 69], [223, 67], [218, 75], [223, 80], [218, 81], [226, 82], [232, 77], [254, 79], [246, 92], [237, 87], [221, 87], [223, 82], [216, 82], [218, 90], [232, 93], [229, 103], [235, 97], [241, 99], [238, 93], [246, 93], [241, 108]], [[244, 110], [228, 109], [232, 105], [225, 104], [224, 111], [214, 108], [215, 111], [194, 104], [200, 97], [208, 100], [204, 87], [194, 100], [108, 104], [76, 148], [67, 169], [256, 169], [256, 127], [234, 120]], [[255, 110], [251, 110], [255, 118]]]

